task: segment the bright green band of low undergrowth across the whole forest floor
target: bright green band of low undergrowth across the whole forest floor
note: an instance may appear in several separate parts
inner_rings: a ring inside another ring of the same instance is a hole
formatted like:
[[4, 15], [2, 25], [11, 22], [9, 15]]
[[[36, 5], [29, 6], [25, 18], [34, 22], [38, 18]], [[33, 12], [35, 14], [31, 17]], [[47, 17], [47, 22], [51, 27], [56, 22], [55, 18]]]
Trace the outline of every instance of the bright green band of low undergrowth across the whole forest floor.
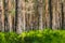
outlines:
[[22, 32], [0, 32], [0, 43], [65, 43], [65, 30], [36, 30]]

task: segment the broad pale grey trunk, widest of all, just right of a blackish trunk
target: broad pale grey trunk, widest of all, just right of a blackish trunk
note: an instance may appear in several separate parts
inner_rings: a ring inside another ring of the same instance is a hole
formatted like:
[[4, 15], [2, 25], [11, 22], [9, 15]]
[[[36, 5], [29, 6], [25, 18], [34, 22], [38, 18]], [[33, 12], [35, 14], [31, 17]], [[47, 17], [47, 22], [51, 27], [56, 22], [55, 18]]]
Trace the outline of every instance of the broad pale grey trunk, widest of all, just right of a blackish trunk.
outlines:
[[16, 32], [25, 31], [25, 0], [17, 0], [17, 28]]

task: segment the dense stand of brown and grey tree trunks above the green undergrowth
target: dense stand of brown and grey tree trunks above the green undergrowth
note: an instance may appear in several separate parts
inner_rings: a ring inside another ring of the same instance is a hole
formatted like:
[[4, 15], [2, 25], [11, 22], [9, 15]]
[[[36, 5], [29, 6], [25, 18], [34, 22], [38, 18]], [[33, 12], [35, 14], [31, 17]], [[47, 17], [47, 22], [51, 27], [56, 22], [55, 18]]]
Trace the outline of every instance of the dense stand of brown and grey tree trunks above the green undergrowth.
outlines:
[[0, 31], [65, 29], [65, 0], [0, 0]]

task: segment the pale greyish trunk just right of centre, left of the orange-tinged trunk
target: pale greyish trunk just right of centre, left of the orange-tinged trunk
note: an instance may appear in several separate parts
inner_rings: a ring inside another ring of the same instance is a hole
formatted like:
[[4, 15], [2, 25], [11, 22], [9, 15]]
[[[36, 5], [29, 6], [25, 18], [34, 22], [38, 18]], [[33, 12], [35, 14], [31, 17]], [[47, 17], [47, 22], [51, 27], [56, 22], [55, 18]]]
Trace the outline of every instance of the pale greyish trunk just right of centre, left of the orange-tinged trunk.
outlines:
[[39, 29], [42, 29], [43, 0], [38, 0]]

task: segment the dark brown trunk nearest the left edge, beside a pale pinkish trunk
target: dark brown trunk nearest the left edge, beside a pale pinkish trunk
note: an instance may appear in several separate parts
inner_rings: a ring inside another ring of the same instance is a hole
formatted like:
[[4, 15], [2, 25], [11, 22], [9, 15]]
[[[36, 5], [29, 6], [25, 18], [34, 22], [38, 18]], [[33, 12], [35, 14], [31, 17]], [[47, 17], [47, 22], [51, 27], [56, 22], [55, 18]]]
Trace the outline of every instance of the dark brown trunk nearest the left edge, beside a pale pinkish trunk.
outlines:
[[8, 15], [9, 15], [9, 0], [4, 0], [4, 31], [9, 31]]

